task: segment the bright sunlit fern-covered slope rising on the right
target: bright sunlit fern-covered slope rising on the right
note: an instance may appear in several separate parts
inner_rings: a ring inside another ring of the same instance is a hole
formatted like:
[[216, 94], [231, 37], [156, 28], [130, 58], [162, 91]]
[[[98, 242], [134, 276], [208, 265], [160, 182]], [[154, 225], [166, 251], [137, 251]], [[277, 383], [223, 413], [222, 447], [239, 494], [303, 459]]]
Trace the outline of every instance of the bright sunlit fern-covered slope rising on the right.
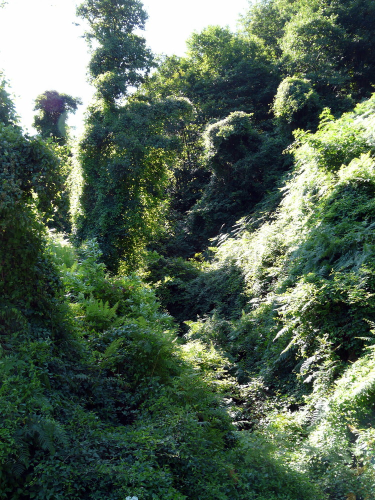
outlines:
[[238, 419], [335, 500], [375, 491], [374, 111], [372, 97], [337, 120], [325, 110], [314, 134], [295, 133], [278, 208], [263, 203], [205, 270], [234, 259], [247, 304], [232, 317], [213, 309], [187, 334], [235, 356]]

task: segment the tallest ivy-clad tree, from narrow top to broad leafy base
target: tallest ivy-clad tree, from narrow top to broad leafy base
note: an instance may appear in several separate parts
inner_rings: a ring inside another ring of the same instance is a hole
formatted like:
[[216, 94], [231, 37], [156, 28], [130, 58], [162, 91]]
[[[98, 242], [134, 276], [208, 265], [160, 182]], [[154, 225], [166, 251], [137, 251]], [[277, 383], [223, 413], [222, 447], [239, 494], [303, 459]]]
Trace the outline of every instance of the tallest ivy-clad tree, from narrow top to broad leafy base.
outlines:
[[[89, 108], [79, 145], [84, 180], [79, 239], [96, 237], [108, 268], [137, 265], [139, 254], [162, 218], [165, 186], [180, 121], [191, 112], [184, 99], [129, 99], [152, 64], [138, 0], [86, 0], [77, 10], [89, 24], [89, 75], [96, 102]], [[127, 101], [120, 105], [120, 99]]]

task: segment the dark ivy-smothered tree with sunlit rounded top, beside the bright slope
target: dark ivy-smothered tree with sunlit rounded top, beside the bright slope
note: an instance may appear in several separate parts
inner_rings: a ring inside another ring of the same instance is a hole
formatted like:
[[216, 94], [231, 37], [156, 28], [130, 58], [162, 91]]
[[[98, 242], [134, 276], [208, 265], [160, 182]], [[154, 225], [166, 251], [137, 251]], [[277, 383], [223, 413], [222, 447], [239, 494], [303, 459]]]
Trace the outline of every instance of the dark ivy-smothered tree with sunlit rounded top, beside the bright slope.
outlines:
[[202, 245], [259, 201], [274, 152], [268, 135], [256, 130], [252, 115], [243, 111], [208, 125], [203, 139], [211, 177], [188, 216], [192, 232], [203, 236]]

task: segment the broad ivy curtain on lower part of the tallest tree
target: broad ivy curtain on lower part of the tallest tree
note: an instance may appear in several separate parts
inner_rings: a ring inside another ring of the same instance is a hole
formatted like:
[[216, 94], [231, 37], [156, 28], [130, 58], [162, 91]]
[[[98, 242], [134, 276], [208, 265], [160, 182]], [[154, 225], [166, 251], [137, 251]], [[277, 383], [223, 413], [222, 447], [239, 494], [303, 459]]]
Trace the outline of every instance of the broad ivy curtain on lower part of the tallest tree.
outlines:
[[79, 146], [77, 236], [95, 236], [111, 270], [121, 260], [127, 270], [136, 268], [145, 241], [162, 232], [168, 166], [179, 147], [175, 130], [189, 108], [184, 99], [133, 101], [117, 115], [91, 108]]

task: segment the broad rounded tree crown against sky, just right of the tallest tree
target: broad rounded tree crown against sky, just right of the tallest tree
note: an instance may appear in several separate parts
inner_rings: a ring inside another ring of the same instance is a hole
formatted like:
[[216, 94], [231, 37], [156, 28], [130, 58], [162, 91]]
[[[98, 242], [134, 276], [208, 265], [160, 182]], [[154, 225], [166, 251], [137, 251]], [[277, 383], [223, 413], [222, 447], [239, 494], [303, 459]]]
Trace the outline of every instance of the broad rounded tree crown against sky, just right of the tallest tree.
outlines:
[[192, 33], [186, 45], [187, 56], [166, 57], [146, 81], [146, 91], [187, 97], [204, 126], [233, 111], [253, 112], [255, 121], [268, 117], [279, 77], [258, 39], [208, 26]]

